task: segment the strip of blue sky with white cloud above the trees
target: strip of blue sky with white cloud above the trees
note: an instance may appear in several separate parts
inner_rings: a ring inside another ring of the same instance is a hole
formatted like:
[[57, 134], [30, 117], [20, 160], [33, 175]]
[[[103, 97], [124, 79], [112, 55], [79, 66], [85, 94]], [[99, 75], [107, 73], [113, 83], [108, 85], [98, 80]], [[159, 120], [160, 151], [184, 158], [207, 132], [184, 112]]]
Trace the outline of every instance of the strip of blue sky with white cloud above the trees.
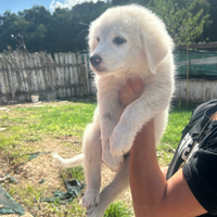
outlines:
[[18, 11], [30, 9], [35, 4], [43, 5], [52, 12], [56, 7], [71, 9], [73, 5], [84, 1], [95, 2], [97, 0], [0, 0], [0, 14], [3, 14], [7, 10], [11, 11], [11, 13], [17, 13]]

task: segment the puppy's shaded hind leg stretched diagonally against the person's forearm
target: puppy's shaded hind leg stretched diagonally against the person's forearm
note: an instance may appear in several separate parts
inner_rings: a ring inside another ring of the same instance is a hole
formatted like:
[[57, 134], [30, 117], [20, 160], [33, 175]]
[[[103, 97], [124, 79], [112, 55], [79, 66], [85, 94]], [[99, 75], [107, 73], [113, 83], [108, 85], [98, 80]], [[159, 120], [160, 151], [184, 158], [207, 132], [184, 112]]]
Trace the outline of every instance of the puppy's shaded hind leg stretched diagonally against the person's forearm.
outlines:
[[87, 209], [88, 217], [102, 217], [107, 206], [129, 187], [129, 156], [125, 157], [123, 165], [114, 180], [105, 187], [100, 194], [100, 203]]

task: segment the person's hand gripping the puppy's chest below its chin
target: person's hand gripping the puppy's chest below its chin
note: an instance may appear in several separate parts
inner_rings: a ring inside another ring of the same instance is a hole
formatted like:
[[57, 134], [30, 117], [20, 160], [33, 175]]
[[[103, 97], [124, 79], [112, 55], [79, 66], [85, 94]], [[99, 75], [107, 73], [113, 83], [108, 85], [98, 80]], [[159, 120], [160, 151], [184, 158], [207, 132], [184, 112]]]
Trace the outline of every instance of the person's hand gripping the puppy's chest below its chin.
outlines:
[[144, 84], [141, 79], [127, 80], [119, 91], [119, 101], [126, 107], [141, 95], [143, 89]]

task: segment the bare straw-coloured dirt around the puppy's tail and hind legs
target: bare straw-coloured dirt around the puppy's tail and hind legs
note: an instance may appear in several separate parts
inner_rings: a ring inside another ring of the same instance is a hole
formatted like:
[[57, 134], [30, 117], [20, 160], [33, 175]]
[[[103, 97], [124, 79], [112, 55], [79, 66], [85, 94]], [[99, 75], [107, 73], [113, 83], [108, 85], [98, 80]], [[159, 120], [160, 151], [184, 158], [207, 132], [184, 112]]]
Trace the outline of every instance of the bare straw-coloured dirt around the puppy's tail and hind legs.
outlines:
[[[74, 136], [64, 136], [58, 138], [47, 138], [43, 137], [42, 140], [36, 142], [29, 142], [29, 145], [35, 145], [39, 152], [58, 152], [62, 157], [73, 157], [79, 153], [81, 153], [81, 139], [79, 137]], [[71, 146], [72, 145], [72, 146]], [[1, 154], [2, 156], [2, 154]], [[12, 174], [13, 177], [18, 180], [18, 183], [5, 183], [3, 188], [10, 192], [10, 188], [13, 184], [13, 188], [22, 188], [27, 189], [29, 186], [33, 186], [36, 190], [38, 188], [43, 187], [43, 196], [49, 197], [53, 196], [52, 191], [61, 190], [66, 191], [63, 179], [61, 178], [61, 169], [56, 166], [55, 162], [53, 161], [51, 154], [40, 154], [38, 157], [25, 163], [24, 165], [20, 166], [17, 171], [14, 173], [14, 167], [10, 165], [10, 158], [7, 156], [1, 157], [0, 159], [0, 176], [3, 177], [7, 174]], [[107, 186], [115, 173], [111, 171], [105, 166], [102, 166], [102, 189]], [[47, 181], [42, 184], [39, 183], [41, 179], [46, 179]], [[81, 194], [85, 190], [80, 193], [78, 200], [81, 200]], [[15, 194], [16, 195], [16, 194]], [[23, 202], [20, 200], [18, 196], [14, 196], [14, 200], [17, 201], [23, 205]], [[118, 200], [124, 201], [129, 207], [131, 206], [131, 195], [130, 191], [124, 192]], [[40, 206], [40, 210], [38, 209]], [[46, 216], [40, 215], [44, 214], [46, 210], [43, 209], [43, 204], [38, 204], [36, 207], [25, 207], [27, 210], [36, 215], [36, 216]], [[8, 217], [17, 217], [17, 215], [5, 215]], [[31, 216], [30, 214], [25, 215], [25, 217]]]

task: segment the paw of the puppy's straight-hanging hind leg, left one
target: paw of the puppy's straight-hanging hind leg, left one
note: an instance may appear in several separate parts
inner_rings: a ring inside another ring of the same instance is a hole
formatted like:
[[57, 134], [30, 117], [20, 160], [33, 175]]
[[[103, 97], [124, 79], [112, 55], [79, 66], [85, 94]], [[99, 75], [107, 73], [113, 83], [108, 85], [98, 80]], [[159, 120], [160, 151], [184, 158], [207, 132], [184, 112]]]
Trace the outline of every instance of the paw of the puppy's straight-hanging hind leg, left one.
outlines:
[[82, 207], [89, 208], [91, 206], [98, 205], [100, 203], [100, 193], [99, 191], [86, 191], [82, 197]]

